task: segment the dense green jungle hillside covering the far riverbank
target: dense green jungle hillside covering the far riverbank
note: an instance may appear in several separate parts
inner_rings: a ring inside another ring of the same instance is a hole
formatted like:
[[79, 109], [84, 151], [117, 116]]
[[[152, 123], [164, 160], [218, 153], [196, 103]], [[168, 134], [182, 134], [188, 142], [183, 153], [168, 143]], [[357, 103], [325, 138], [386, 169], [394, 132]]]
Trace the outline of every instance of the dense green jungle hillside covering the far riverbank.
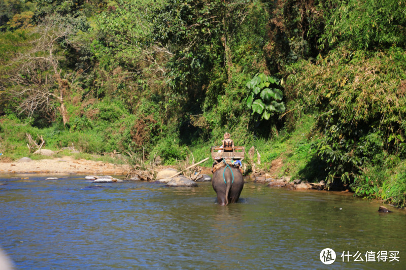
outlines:
[[405, 27], [404, 0], [2, 0], [0, 161], [172, 165], [230, 132], [251, 172], [404, 207]]

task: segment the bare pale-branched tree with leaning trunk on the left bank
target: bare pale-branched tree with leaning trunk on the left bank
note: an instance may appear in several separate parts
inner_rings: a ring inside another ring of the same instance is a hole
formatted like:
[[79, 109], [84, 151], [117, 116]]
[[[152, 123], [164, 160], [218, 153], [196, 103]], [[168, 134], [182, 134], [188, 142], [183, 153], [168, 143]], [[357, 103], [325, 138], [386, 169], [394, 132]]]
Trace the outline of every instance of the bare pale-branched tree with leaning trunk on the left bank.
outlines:
[[[76, 32], [75, 23], [59, 15], [47, 16], [33, 30], [31, 50], [21, 53], [9, 70], [9, 94], [17, 98], [19, 113], [31, 117], [36, 111], [59, 111], [63, 124], [69, 121], [65, 96], [75, 73], [62, 69], [64, 51], [74, 46], [71, 38]], [[77, 74], [77, 73], [76, 73]], [[71, 82], [68, 80], [71, 79]]]

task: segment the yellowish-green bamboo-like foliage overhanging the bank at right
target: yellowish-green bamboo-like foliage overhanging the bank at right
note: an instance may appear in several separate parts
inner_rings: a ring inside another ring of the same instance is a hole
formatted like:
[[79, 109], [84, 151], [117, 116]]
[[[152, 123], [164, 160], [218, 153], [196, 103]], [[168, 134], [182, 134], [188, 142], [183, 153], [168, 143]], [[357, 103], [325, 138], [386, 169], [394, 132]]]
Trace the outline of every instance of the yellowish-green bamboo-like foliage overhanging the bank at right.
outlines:
[[398, 48], [350, 54], [342, 48], [319, 57], [316, 64], [292, 65], [293, 73], [302, 78], [287, 81], [288, 91], [294, 85], [301, 97], [297, 108], [323, 112], [318, 125], [324, 138], [315, 147], [328, 164], [329, 183], [334, 179], [352, 182], [363, 164], [376, 162], [374, 157], [383, 151], [404, 155], [405, 129], [400, 119], [406, 113], [405, 57]]

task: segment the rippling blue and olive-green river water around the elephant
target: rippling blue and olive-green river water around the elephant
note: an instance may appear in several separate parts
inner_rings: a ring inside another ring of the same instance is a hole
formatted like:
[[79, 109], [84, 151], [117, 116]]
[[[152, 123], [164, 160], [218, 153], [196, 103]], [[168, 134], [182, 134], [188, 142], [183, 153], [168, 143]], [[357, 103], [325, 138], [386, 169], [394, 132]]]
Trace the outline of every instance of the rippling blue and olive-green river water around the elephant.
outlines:
[[221, 207], [210, 182], [13, 177], [0, 178], [0, 246], [17, 269], [406, 268], [405, 212], [351, 194], [246, 183]]

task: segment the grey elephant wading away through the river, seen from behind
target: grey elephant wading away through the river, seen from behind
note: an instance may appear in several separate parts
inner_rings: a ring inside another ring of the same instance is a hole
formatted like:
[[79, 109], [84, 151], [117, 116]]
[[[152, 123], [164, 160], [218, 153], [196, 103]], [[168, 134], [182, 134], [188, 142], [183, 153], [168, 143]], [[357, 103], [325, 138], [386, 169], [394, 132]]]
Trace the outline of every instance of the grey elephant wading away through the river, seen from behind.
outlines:
[[238, 168], [223, 166], [214, 172], [212, 186], [217, 193], [219, 205], [226, 206], [228, 203], [236, 203], [244, 187], [243, 175]]

